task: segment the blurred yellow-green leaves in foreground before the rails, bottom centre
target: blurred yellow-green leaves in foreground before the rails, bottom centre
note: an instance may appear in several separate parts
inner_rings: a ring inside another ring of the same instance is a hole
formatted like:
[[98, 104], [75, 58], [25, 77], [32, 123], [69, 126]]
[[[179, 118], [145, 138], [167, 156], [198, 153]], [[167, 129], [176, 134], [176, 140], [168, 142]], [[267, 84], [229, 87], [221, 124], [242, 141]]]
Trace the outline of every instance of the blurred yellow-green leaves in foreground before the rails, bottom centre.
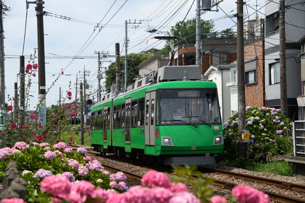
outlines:
[[[214, 181], [212, 178], [204, 178], [200, 171], [197, 171], [197, 166], [173, 166], [174, 173], [177, 175], [175, 182], [182, 182], [185, 184], [192, 184], [196, 187], [197, 198], [201, 202], [210, 202], [210, 198], [213, 197], [214, 191], [212, 188], [207, 187]], [[194, 177], [196, 175], [196, 178]], [[182, 179], [181, 179], [182, 178]]]

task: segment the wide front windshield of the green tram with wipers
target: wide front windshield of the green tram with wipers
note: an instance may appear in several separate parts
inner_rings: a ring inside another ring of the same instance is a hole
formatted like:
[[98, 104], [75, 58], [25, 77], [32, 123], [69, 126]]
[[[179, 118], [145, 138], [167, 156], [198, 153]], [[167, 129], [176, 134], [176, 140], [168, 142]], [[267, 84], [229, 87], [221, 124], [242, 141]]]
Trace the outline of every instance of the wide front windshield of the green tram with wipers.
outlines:
[[164, 89], [159, 98], [161, 125], [221, 122], [216, 89]]

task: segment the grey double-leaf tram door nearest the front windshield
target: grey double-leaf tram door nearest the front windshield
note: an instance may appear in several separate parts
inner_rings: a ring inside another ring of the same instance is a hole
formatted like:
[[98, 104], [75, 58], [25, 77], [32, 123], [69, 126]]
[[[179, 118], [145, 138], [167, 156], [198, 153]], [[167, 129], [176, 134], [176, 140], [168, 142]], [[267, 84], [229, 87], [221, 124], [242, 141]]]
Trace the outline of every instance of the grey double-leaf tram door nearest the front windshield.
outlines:
[[155, 109], [156, 91], [145, 93], [145, 153], [156, 154], [155, 152]]

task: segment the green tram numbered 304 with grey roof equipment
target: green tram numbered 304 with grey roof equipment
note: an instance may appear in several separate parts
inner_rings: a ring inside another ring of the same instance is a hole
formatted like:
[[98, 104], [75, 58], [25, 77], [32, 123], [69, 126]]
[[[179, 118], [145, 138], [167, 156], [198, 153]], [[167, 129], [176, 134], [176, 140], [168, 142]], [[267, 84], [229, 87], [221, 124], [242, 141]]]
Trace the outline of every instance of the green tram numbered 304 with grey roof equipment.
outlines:
[[224, 147], [216, 84], [201, 80], [199, 66], [150, 74], [91, 107], [94, 151], [153, 164], [216, 163]]

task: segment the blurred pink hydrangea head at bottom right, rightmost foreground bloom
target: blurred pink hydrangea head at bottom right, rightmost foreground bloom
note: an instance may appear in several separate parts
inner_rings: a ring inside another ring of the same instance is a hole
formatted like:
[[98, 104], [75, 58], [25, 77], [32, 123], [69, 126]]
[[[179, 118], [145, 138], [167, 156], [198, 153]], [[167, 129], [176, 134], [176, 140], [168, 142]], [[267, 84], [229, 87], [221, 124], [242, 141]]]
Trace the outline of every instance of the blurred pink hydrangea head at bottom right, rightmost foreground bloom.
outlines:
[[247, 185], [236, 185], [232, 189], [232, 194], [239, 202], [247, 203], [268, 203], [269, 197], [262, 191]]

